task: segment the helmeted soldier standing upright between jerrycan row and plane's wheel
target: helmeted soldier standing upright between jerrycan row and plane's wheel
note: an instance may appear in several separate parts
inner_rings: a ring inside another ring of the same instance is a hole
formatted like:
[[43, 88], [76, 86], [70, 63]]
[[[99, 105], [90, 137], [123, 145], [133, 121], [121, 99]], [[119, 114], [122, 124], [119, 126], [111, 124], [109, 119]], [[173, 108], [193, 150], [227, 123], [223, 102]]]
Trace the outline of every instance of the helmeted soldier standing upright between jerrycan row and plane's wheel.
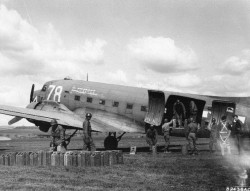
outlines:
[[91, 124], [90, 119], [92, 117], [91, 113], [86, 114], [85, 121], [83, 122], [83, 150], [95, 151], [95, 144], [91, 137]]

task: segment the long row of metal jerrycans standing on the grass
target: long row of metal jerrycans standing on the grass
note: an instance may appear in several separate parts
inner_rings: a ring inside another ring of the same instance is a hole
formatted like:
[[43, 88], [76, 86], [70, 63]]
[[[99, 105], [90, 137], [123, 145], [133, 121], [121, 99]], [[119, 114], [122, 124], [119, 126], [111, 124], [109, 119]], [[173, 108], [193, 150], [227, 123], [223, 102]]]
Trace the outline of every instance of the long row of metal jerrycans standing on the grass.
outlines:
[[5, 166], [112, 166], [123, 164], [121, 150], [11, 152], [0, 155], [0, 165]]

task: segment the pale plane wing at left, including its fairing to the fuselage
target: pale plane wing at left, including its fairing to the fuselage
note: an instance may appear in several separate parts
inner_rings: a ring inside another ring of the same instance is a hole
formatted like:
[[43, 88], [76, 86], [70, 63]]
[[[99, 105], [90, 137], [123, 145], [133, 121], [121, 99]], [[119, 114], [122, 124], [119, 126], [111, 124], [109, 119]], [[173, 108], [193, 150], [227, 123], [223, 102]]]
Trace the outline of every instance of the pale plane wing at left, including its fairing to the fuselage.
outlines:
[[93, 114], [91, 119], [91, 127], [93, 131], [145, 133], [143, 124], [128, 117], [102, 110], [87, 109], [81, 113], [64, 113], [51, 110], [36, 110], [31, 108], [0, 105], [0, 114], [48, 123], [52, 119], [56, 119], [60, 125], [79, 130], [82, 130], [82, 123], [84, 120], [80, 116], [84, 116], [86, 112], [91, 112]]

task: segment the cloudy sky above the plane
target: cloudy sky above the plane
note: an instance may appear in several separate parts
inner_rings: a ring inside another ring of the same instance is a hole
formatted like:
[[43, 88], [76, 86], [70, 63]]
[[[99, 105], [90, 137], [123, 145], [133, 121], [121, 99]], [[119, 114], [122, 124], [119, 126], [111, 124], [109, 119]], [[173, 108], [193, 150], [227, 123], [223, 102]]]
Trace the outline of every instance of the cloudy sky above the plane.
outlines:
[[248, 0], [0, 0], [0, 104], [70, 76], [250, 95]]

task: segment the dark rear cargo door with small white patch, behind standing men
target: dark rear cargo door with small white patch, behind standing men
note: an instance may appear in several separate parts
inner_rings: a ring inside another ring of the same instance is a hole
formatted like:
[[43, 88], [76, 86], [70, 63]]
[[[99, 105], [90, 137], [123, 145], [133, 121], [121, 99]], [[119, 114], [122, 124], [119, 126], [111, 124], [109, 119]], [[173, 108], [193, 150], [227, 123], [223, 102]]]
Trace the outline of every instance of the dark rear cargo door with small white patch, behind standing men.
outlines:
[[233, 122], [233, 115], [235, 113], [235, 103], [215, 100], [212, 102], [212, 118], [215, 118], [217, 123], [221, 121], [222, 116], [227, 117], [229, 123]]

